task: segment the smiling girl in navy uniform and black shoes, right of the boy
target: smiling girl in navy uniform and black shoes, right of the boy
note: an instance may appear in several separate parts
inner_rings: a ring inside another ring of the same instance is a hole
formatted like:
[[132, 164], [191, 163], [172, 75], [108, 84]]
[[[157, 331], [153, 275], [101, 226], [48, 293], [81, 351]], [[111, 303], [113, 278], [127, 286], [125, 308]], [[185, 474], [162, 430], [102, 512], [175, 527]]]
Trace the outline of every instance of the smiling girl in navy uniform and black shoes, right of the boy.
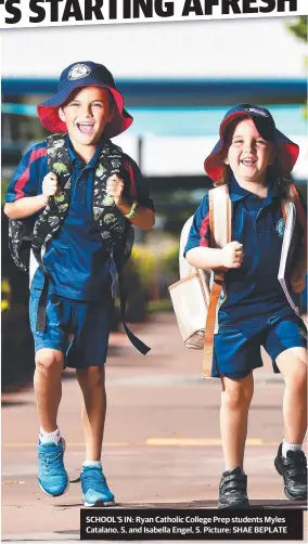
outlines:
[[219, 485], [219, 508], [248, 507], [243, 471], [253, 371], [262, 366], [260, 347], [285, 381], [284, 438], [274, 461], [288, 498], [307, 497], [306, 457], [301, 443], [307, 427], [306, 327], [278, 281], [284, 218], [282, 199], [293, 193], [296, 247], [290, 277], [293, 297], [305, 285], [305, 215], [297, 190], [286, 181], [298, 146], [277, 130], [268, 109], [240, 104], [220, 126], [220, 140], [205, 160], [215, 184], [227, 183], [232, 203], [232, 242], [208, 247], [208, 197], [195, 212], [185, 247], [197, 268], [227, 270], [224, 298], [218, 311], [211, 375], [220, 377], [220, 432], [226, 464]]

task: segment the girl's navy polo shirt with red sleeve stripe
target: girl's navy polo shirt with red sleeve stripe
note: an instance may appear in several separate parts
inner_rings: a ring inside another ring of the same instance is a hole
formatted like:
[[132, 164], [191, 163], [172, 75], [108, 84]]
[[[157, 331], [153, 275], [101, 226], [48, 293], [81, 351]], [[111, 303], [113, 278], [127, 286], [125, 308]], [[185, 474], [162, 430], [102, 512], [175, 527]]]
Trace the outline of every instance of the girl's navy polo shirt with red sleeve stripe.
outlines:
[[[266, 198], [242, 189], [233, 178], [229, 185], [232, 202], [232, 242], [243, 244], [240, 269], [226, 274], [226, 298], [218, 312], [219, 325], [258, 322], [265, 315], [294, 315], [278, 281], [284, 220], [278, 184], [268, 183]], [[209, 207], [206, 195], [194, 215], [184, 249], [209, 245]]]

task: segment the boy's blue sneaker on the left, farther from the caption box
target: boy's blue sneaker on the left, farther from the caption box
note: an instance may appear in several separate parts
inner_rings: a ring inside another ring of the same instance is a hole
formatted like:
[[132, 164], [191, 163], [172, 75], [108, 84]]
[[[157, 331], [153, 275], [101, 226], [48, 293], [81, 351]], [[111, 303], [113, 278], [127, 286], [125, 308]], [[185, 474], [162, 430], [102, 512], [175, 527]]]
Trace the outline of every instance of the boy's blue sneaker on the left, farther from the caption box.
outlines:
[[65, 442], [63, 438], [57, 443], [38, 443], [40, 489], [50, 496], [60, 496], [68, 489], [69, 481], [64, 468], [63, 456]]

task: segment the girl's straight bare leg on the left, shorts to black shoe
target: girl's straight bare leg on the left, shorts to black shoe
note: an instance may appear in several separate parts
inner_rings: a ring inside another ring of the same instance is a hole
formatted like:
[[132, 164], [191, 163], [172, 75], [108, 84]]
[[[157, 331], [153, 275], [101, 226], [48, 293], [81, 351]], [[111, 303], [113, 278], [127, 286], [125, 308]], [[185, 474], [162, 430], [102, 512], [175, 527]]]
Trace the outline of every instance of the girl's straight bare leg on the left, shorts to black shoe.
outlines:
[[226, 470], [243, 468], [248, 410], [254, 392], [253, 373], [243, 379], [221, 377], [220, 433]]

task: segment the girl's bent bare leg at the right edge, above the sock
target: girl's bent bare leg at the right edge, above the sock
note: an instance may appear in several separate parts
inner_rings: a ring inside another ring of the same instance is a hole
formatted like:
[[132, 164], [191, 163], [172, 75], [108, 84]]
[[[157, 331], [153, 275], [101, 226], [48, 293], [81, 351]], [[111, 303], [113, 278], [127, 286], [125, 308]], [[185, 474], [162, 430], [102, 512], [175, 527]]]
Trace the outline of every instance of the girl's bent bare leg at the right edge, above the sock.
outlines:
[[290, 348], [277, 358], [284, 377], [284, 440], [301, 444], [307, 429], [307, 353], [305, 348]]

